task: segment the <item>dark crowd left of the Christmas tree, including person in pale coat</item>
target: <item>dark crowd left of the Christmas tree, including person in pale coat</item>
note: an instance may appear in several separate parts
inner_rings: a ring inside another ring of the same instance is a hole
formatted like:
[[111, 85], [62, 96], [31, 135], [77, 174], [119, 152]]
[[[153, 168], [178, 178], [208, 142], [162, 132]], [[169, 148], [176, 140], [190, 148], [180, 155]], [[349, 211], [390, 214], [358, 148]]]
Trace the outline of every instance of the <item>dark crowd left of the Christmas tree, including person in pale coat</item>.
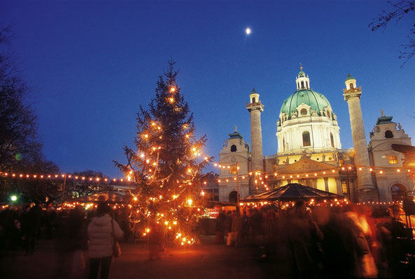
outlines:
[[[35, 255], [38, 239], [52, 239], [58, 256], [58, 278], [85, 278], [87, 250], [89, 278], [108, 278], [115, 240], [129, 231], [127, 211], [112, 211], [106, 203], [92, 210], [83, 206], [57, 210], [50, 204], [6, 206], [0, 212], [0, 250], [22, 250]], [[120, 224], [120, 225], [118, 225]]]

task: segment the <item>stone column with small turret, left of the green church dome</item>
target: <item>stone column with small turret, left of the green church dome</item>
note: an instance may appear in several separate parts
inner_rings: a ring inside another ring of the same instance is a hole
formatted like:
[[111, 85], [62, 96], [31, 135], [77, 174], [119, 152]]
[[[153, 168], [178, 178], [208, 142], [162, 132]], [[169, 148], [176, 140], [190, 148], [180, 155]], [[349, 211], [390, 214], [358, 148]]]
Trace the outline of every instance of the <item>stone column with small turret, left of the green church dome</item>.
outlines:
[[250, 103], [246, 103], [246, 110], [251, 114], [251, 162], [252, 171], [263, 171], [262, 158], [262, 128], [261, 112], [264, 111], [264, 105], [261, 104], [260, 94], [252, 89], [249, 95]]

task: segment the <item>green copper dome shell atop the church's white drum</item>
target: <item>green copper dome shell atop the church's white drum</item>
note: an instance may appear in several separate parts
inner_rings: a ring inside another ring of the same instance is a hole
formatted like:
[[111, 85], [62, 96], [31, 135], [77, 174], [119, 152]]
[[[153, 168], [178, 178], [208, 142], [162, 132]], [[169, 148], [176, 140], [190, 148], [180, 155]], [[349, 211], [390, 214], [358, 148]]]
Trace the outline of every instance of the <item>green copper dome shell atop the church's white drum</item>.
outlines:
[[310, 106], [310, 114], [313, 114], [314, 110], [319, 116], [321, 116], [320, 110], [324, 112], [324, 108], [330, 106], [323, 94], [312, 89], [300, 89], [284, 100], [281, 113], [285, 113], [288, 119], [291, 119], [291, 114], [294, 112], [297, 115], [297, 107], [302, 103]]

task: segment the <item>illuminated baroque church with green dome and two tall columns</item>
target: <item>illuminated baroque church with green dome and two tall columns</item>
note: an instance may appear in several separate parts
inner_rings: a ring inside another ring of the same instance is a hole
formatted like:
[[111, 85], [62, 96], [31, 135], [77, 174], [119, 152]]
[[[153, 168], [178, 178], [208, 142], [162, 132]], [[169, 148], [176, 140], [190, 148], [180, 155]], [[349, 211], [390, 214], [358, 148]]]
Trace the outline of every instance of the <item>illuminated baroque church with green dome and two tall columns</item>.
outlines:
[[297, 89], [283, 101], [276, 121], [278, 149], [263, 156], [260, 94], [253, 89], [246, 109], [251, 117], [251, 146], [237, 128], [225, 140], [219, 154], [219, 200], [301, 183], [343, 195], [353, 202], [391, 202], [399, 191], [413, 190], [414, 183], [402, 163], [405, 156], [391, 144], [411, 146], [400, 124], [381, 111], [367, 144], [360, 96], [362, 90], [349, 75], [344, 100], [349, 106], [353, 149], [342, 149], [337, 115], [321, 93], [311, 89], [309, 76], [300, 67]]

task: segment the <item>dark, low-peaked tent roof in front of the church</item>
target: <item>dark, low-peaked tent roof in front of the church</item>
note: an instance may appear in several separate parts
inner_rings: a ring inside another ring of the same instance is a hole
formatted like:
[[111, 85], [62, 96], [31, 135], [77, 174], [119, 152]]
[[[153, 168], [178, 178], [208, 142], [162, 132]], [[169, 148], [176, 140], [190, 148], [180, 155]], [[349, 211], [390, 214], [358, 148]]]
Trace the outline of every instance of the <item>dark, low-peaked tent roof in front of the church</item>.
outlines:
[[323, 190], [303, 186], [299, 183], [288, 183], [286, 186], [275, 188], [258, 195], [251, 195], [241, 202], [262, 202], [262, 201], [275, 201], [275, 200], [295, 200], [295, 199], [335, 199], [343, 198], [340, 195], [336, 195]]

